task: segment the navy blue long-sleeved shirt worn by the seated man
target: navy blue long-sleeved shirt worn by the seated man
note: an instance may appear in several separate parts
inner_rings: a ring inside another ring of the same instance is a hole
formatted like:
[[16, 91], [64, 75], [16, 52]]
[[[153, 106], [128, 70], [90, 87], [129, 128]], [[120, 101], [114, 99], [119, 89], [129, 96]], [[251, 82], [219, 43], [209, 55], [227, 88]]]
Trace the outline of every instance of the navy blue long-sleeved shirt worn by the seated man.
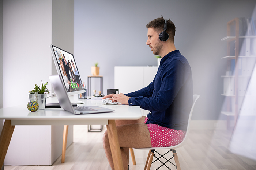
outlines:
[[176, 130], [187, 130], [193, 102], [193, 82], [187, 59], [175, 50], [160, 61], [153, 82], [138, 91], [125, 94], [129, 105], [149, 110], [148, 123]]

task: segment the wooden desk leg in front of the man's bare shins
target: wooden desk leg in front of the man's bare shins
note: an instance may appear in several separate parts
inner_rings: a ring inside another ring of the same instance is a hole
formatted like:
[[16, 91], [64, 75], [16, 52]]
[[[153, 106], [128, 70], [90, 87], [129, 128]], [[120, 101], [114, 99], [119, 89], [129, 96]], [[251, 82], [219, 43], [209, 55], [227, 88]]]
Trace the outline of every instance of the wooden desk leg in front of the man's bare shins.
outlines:
[[124, 170], [115, 120], [108, 120], [107, 129], [115, 170]]

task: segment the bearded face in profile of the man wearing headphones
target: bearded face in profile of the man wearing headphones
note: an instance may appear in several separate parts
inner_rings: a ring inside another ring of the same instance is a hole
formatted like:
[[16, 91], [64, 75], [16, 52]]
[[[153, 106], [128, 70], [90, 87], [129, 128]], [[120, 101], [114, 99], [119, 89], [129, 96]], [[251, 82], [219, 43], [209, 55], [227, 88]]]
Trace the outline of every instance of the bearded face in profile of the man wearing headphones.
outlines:
[[147, 42], [146, 44], [150, 47], [150, 50], [155, 55], [159, 55], [160, 51], [162, 50], [163, 44], [158, 38], [158, 33], [154, 31], [153, 28], [148, 28], [147, 30]]

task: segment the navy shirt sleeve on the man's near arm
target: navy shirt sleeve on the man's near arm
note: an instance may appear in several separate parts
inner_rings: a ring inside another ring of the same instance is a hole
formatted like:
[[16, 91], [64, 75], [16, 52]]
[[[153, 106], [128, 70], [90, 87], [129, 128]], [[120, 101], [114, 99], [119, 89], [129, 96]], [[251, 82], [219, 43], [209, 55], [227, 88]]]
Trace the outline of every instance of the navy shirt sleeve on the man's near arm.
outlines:
[[[129, 105], [140, 106], [150, 111], [165, 111], [173, 102], [180, 88], [188, 79], [189, 69], [180, 60], [172, 60], [162, 68], [159, 79], [155, 81], [152, 96], [132, 96]], [[158, 87], [159, 86], [159, 87]]]

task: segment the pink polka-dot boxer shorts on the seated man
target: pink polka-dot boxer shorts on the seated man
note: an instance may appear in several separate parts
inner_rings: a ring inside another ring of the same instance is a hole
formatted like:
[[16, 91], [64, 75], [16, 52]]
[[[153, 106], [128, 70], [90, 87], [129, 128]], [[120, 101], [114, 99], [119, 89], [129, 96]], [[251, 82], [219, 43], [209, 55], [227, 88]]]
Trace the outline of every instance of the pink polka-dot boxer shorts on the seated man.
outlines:
[[[145, 123], [147, 122], [147, 117]], [[170, 129], [158, 124], [147, 124], [152, 147], [167, 147], [179, 144], [185, 137], [186, 131]]]

